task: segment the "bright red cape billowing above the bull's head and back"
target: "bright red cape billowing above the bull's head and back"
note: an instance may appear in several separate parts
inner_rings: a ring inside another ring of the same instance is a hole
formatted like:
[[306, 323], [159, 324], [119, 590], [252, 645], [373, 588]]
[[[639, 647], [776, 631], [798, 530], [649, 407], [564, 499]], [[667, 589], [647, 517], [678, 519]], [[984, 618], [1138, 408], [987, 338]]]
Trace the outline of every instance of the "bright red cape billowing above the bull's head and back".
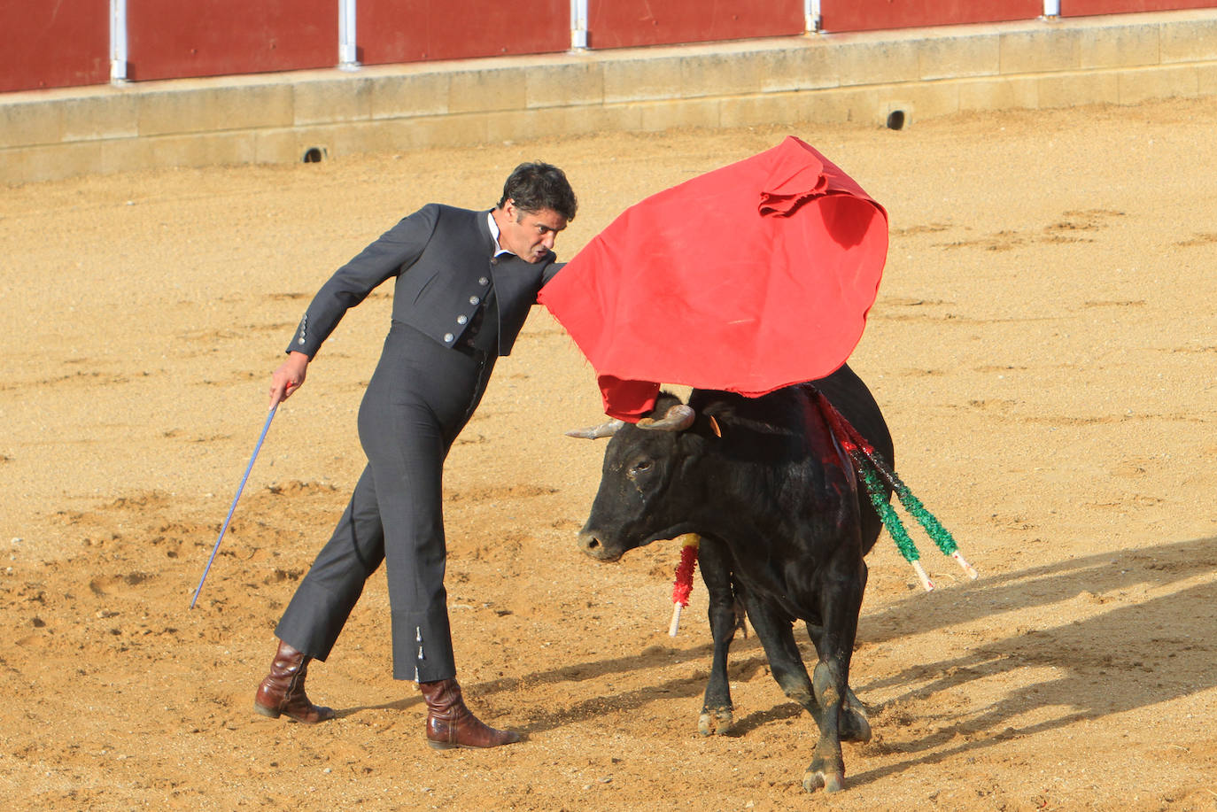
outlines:
[[862, 337], [887, 212], [803, 141], [626, 209], [539, 301], [638, 420], [661, 383], [757, 397], [831, 374]]

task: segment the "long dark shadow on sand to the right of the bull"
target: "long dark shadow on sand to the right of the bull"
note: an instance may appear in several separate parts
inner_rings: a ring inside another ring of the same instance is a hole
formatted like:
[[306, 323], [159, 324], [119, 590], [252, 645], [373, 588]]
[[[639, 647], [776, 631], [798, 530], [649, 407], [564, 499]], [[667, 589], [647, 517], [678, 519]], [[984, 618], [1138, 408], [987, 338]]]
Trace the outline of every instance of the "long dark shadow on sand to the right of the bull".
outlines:
[[[989, 635], [961, 656], [856, 684], [863, 700], [869, 690], [909, 685], [892, 700], [898, 704], [1023, 668], [1054, 668], [1050, 678], [1039, 682], [1028, 683], [1023, 677], [1019, 681], [1022, 687], [980, 713], [960, 713], [954, 723], [902, 743], [898, 750], [908, 754], [908, 760], [856, 774], [851, 783], [863, 784], [913, 763], [936, 763], [1015, 735], [1066, 728], [1213, 688], [1217, 579], [1206, 577], [1213, 573], [1217, 538], [1205, 538], [994, 576], [977, 582], [949, 605], [927, 603], [918, 609], [914, 600], [907, 600], [870, 618], [864, 614], [859, 638], [881, 642], [1050, 604], [1082, 601], [1092, 606], [1086, 617], [1055, 626], [1037, 628], [1023, 621], [1013, 627], [1008, 620], [998, 621], [1009, 633]], [[1173, 584], [1178, 588], [1172, 589]], [[1134, 601], [1126, 590], [1152, 597]], [[1103, 606], [1098, 614], [1095, 604]], [[1061, 713], [1016, 726], [1017, 717], [1037, 707], [1055, 707]]]

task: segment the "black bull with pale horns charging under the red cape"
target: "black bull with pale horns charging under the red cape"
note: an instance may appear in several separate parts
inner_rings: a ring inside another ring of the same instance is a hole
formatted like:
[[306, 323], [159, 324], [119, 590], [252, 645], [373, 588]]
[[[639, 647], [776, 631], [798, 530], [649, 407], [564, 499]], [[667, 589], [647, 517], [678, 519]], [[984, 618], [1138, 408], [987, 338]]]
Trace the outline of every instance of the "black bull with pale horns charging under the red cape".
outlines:
[[[848, 366], [814, 386], [894, 465], [879, 405]], [[819, 727], [803, 786], [841, 789], [841, 741], [870, 738], [848, 678], [867, 586], [863, 556], [882, 523], [815, 393], [807, 385], [761, 398], [694, 390], [688, 405], [663, 393], [650, 419], [612, 430], [581, 547], [616, 561], [654, 541], [700, 536], [714, 654], [699, 727], [723, 732], [731, 722], [727, 653], [738, 598], [774, 679]], [[607, 433], [593, 432], [572, 433]], [[811, 677], [795, 643], [796, 620], [819, 655]]]

